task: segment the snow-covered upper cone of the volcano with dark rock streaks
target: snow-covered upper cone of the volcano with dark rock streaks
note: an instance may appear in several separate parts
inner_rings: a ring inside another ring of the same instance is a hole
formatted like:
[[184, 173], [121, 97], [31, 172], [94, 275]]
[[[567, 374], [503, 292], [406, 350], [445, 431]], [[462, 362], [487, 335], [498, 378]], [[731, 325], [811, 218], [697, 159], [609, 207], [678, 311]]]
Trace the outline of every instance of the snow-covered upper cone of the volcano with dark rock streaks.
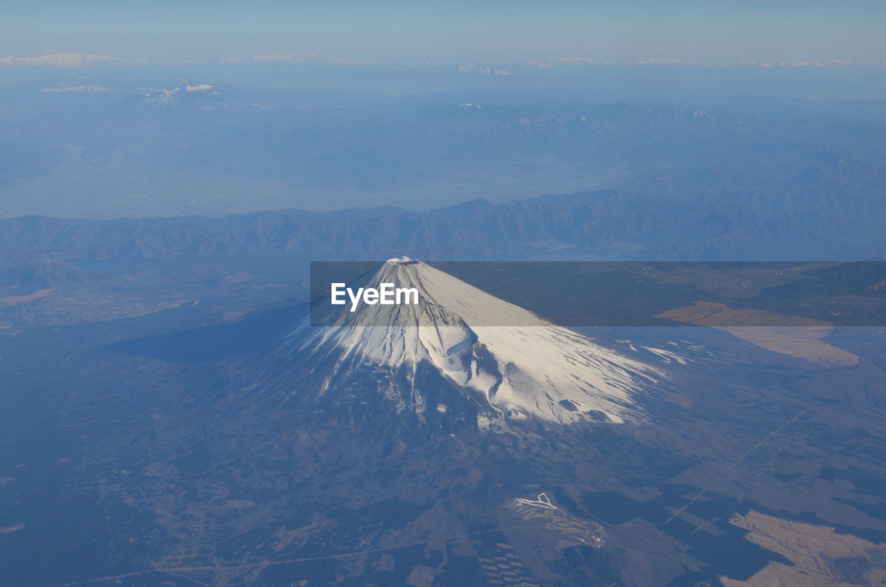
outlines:
[[376, 380], [388, 375], [384, 393], [400, 408], [424, 411], [432, 407], [434, 390], [426, 372], [417, 373], [430, 369], [486, 405], [487, 421], [623, 422], [644, 419], [635, 400], [662, 379], [646, 364], [424, 262], [393, 258], [348, 286], [357, 291], [382, 284], [415, 288], [417, 303], [362, 303], [354, 311], [330, 306], [326, 325], [291, 333], [291, 355], [334, 365], [321, 394], [352, 389], [349, 378], [369, 370]]

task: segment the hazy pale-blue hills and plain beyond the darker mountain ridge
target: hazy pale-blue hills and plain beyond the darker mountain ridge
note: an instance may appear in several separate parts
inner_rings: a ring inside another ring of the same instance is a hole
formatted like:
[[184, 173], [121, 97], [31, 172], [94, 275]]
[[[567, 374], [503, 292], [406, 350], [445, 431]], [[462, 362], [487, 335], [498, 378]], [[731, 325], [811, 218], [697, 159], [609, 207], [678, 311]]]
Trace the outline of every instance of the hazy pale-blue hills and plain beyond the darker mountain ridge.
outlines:
[[[348, 97], [206, 79], [128, 96], [39, 92], [0, 120], [10, 137], [0, 216], [431, 209], [618, 189], [788, 222], [807, 210], [883, 221], [886, 130], [850, 117], [851, 105], [527, 99]], [[799, 222], [819, 231], [831, 220]]]

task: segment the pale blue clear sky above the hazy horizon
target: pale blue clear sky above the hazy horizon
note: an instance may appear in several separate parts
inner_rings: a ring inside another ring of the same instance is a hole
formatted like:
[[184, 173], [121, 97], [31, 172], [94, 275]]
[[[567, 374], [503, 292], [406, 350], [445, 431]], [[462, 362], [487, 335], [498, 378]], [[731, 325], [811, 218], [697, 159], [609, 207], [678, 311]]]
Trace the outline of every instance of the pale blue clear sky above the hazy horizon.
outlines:
[[0, 56], [378, 62], [587, 57], [703, 63], [883, 59], [886, 2], [5, 0]]

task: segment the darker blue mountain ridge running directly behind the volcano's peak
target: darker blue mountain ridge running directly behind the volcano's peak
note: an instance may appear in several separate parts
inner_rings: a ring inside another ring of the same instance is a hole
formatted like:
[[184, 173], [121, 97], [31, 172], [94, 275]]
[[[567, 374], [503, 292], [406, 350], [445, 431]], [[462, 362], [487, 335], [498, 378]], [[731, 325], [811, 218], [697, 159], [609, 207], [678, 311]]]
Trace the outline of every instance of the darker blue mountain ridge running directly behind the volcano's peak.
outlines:
[[328, 260], [403, 253], [439, 261], [865, 260], [886, 253], [876, 209], [845, 215], [801, 207], [754, 211], [603, 191], [505, 204], [475, 200], [427, 212], [378, 207], [142, 220], [25, 216], [0, 220], [0, 250], [7, 267], [38, 259], [262, 251]]

